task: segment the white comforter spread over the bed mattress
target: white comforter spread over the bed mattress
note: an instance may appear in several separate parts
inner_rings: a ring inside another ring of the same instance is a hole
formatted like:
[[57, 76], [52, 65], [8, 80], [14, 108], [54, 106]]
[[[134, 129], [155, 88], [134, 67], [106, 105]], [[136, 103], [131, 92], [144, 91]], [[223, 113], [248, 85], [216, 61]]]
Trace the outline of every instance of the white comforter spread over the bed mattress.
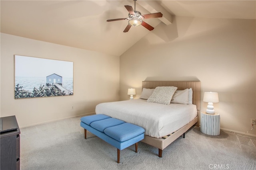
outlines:
[[146, 102], [143, 99], [101, 103], [96, 106], [96, 114], [104, 114], [143, 127], [145, 135], [164, 137], [192, 121], [196, 115], [196, 105], [170, 105]]

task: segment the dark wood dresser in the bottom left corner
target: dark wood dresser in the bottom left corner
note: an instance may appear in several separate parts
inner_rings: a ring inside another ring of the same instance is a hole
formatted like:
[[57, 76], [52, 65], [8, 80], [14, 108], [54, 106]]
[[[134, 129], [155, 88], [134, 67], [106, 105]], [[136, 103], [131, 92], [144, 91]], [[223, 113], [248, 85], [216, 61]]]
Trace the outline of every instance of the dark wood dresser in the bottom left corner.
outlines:
[[[12, 122], [18, 127], [15, 116], [2, 117], [2, 122]], [[0, 135], [0, 169], [19, 170], [20, 169], [20, 128], [17, 130], [2, 132]]]

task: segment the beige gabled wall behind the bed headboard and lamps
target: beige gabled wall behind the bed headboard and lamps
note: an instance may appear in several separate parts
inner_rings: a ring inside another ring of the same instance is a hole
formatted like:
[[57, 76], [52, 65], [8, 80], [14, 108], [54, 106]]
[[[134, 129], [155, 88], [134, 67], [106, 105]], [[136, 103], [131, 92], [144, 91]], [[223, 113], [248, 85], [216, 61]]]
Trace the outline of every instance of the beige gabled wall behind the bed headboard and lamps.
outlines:
[[139, 98], [143, 80], [200, 80], [201, 99], [219, 94], [221, 128], [246, 132], [256, 118], [255, 63], [255, 20], [174, 17], [120, 56], [120, 100], [129, 99], [128, 88]]

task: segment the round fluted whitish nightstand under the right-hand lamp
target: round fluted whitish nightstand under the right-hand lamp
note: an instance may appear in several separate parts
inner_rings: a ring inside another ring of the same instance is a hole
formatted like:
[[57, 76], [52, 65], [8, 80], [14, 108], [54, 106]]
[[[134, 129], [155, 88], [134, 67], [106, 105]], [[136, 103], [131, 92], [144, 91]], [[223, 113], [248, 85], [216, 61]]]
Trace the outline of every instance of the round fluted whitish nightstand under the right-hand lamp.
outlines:
[[201, 112], [200, 129], [207, 135], [220, 135], [220, 115]]

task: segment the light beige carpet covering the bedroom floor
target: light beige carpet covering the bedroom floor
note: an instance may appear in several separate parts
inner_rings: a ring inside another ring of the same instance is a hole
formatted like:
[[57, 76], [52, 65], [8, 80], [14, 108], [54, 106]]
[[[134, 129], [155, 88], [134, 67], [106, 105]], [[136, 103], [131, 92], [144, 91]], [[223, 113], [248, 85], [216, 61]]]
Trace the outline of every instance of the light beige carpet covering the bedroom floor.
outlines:
[[90, 132], [80, 117], [22, 128], [21, 170], [255, 170], [256, 139], [220, 132], [210, 136], [192, 127], [163, 150], [140, 142], [120, 152]]

